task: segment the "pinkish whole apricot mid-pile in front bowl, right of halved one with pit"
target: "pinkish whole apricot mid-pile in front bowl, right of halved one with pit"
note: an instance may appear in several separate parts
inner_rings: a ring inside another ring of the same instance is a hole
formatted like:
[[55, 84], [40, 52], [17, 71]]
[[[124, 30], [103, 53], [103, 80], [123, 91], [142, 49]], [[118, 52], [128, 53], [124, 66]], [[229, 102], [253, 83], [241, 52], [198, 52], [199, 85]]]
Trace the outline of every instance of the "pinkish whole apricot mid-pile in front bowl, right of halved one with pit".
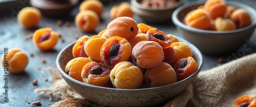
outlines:
[[163, 61], [163, 48], [156, 41], [140, 41], [132, 50], [132, 58], [136, 66], [153, 68]]

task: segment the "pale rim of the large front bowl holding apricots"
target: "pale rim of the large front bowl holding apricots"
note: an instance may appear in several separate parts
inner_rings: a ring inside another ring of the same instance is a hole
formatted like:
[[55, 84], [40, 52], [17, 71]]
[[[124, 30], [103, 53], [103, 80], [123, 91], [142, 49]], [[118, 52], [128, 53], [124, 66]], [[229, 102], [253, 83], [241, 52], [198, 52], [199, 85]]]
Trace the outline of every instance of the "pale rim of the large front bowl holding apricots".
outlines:
[[[181, 81], [178, 81], [178, 82], [175, 82], [175, 83], [172, 83], [172, 84], [168, 84], [168, 85], [163, 85], [163, 86], [160, 86], [160, 87], [153, 87], [153, 88], [142, 88], [142, 89], [117, 89], [117, 88], [107, 88], [107, 87], [100, 87], [100, 86], [96, 86], [96, 85], [91, 85], [91, 84], [87, 84], [87, 83], [84, 83], [84, 82], [80, 82], [72, 77], [70, 77], [68, 74], [66, 74], [60, 67], [60, 64], [59, 64], [59, 59], [60, 59], [60, 56], [61, 54], [70, 46], [74, 45], [76, 41], [73, 41], [71, 44], [69, 44], [68, 46], [66, 46], [65, 48], [63, 48], [59, 54], [57, 55], [57, 58], [56, 58], [56, 65], [57, 65], [57, 69], [59, 71], [59, 73], [61, 74], [61, 76], [65, 76], [65, 78], [69, 79], [70, 81], [72, 82], [75, 82], [77, 84], [80, 84], [80, 85], [84, 85], [85, 87], [91, 87], [91, 88], [97, 88], [97, 89], [101, 89], [101, 90], [113, 90], [113, 91], [119, 91], [119, 92], [139, 92], [139, 91], [150, 91], [150, 90], [159, 90], [159, 89], [167, 89], [168, 87], [176, 87], [177, 85], [180, 84], [180, 82], [186, 82], [186, 80], [194, 77], [194, 76], [197, 76], [201, 69], [202, 69], [202, 66], [203, 66], [203, 55], [202, 53], [199, 51], [199, 49], [194, 46], [193, 44], [191, 44], [190, 42], [188, 42], [187, 40], [181, 38], [181, 37], [178, 37], [178, 39], [181, 41], [181, 42], [185, 42], [190, 48], [191, 50], [193, 50], [194, 52], [198, 53], [198, 58], [199, 58], [199, 62], [201, 63], [198, 63], [198, 67], [197, 67], [197, 70], [191, 74], [189, 77], [181, 80]], [[194, 55], [193, 55], [194, 56]], [[63, 78], [63, 77], [62, 77]]]

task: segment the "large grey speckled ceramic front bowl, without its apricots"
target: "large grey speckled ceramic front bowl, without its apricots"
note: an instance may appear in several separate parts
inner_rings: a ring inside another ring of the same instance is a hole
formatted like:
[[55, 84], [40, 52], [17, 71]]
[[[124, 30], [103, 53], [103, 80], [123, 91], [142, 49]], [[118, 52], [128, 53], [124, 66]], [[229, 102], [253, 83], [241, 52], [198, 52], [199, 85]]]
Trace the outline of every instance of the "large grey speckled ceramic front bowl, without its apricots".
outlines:
[[64, 48], [57, 56], [56, 63], [59, 73], [68, 85], [85, 99], [103, 106], [157, 106], [166, 103], [170, 99], [185, 91], [194, 79], [197, 77], [203, 66], [203, 57], [201, 52], [192, 44], [182, 38], [193, 51], [193, 57], [198, 63], [198, 68], [194, 74], [188, 78], [169, 85], [146, 89], [115, 89], [98, 87], [77, 81], [67, 75], [65, 66], [68, 61], [73, 59], [72, 47], [75, 42]]

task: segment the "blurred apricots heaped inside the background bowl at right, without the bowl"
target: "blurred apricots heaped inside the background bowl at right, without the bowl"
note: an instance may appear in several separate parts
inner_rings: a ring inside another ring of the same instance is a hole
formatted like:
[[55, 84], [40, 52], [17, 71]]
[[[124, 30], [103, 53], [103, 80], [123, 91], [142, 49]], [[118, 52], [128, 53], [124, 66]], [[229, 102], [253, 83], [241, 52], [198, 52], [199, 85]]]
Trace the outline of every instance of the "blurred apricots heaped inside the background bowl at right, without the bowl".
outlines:
[[203, 30], [230, 31], [250, 25], [251, 17], [245, 9], [227, 5], [225, 0], [207, 0], [204, 5], [188, 12], [183, 22]]

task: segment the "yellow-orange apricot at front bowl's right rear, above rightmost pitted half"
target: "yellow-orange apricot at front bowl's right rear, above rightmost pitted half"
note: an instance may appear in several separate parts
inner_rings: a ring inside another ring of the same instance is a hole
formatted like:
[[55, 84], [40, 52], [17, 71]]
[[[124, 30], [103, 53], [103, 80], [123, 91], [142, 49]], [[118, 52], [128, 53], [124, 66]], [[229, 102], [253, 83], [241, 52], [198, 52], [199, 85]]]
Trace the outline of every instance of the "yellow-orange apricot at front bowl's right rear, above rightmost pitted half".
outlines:
[[175, 51], [173, 63], [177, 63], [181, 58], [192, 57], [192, 51], [189, 46], [184, 42], [174, 42], [170, 47]]

